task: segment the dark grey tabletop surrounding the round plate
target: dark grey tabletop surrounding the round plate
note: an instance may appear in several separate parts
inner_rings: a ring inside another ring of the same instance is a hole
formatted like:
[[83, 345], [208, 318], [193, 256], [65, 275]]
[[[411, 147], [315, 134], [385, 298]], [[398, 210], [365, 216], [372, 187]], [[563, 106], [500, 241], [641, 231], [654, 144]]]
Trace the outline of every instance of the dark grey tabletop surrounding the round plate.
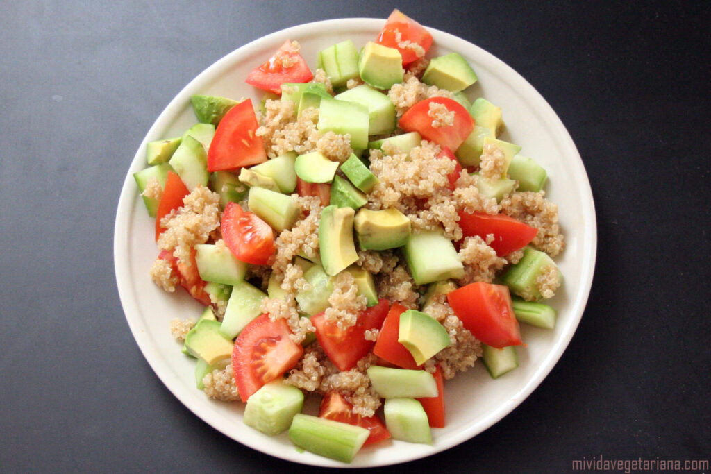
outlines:
[[231, 441], [159, 382], [119, 303], [114, 215], [141, 139], [198, 72], [265, 33], [394, 6], [541, 92], [599, 226], [592, 294], [557, 367], [488, 431], [405, 467], [710, 458], [710, 4], [616, 3], [4, 2], [0, 470], [311, 470]]

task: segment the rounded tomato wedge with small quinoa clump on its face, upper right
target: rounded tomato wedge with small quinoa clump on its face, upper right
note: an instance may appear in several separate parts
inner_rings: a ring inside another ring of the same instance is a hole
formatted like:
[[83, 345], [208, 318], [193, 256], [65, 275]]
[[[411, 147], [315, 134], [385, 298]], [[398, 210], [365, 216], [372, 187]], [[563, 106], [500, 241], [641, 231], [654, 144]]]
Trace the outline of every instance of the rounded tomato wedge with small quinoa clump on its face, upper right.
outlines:
[[[447, 107], [447, 113], [454, 112], [454, 122], [451, 125], [432, 126], [432, 122], [437, 119], [437, 114], [429, 114], [430, 104], [441, 104]], [[447, 146], [450, 150], [456, 150], [474, 130], [474, 119], [456, 100], [447, 97], [431, 97], [421, 100], [407, 109], [405, 114], [400, 117], [400, 128], [405, 131], [417, 131], [425, 140], [434, 141], [439, 146]]]

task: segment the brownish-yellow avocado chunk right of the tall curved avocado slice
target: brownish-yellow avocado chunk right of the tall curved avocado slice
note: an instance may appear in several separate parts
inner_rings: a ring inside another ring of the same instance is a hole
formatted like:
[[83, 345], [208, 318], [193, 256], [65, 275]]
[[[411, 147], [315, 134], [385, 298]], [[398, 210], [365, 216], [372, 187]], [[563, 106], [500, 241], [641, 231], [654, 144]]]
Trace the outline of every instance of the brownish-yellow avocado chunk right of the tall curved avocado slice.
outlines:
[[410, 239], [410, 219], [395, 208], [360, 209], [353, 220], [361, 249], [397, 249]]

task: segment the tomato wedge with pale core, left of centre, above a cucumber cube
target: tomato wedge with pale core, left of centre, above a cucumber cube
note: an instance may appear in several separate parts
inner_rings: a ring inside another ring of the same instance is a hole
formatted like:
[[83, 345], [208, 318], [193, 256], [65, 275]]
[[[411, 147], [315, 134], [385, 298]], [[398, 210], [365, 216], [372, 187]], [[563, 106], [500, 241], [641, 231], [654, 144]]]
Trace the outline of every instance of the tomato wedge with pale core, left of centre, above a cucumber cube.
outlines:
[[266, 265], [274, 254], [272, 227], [237, 203], [225, 206], [220, 231], [228, 249], [242, 262]]

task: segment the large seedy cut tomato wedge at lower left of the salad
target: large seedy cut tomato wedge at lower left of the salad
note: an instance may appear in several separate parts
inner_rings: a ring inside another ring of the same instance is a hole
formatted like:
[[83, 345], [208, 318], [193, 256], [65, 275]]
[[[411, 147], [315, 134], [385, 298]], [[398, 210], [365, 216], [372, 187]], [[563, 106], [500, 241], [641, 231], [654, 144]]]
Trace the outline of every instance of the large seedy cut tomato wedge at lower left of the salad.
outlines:
[[269, 315], [262, 314], [237, 336], [232, 368], [242, 402], [299, 362], [304, 348], [289, 338], [291, 333], [284, 319], [272, 321]]

